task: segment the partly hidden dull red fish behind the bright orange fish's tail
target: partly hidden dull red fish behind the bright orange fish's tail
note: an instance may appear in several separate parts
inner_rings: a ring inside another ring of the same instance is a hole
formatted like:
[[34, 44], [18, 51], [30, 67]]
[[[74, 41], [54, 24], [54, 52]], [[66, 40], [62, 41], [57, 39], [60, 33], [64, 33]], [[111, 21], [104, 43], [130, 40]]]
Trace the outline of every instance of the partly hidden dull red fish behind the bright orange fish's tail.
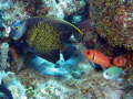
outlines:
[[127, 57], [126, 55], [120, 55], [115, 58], [113, 58], [112, 63], [115, 66], [124, 66], [126, 64]]

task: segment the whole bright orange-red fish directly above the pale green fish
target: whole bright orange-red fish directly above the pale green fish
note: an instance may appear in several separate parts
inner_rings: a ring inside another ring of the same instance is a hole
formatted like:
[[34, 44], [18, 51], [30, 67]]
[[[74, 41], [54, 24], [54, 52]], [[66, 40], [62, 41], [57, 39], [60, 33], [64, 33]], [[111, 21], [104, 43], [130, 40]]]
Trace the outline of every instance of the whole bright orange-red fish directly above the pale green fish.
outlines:
[[95, 64], [99, 64], [103, 67], [113, 67], [113, 65], [110, 64], [110, 61], [112, 58], [106, 57], [105, 55], [103, 55], [102, 53], [100, 53], [98, 51], [88, 50], [88, 51], [85, 51], [85, 55], [91, 62], [93, 62]]

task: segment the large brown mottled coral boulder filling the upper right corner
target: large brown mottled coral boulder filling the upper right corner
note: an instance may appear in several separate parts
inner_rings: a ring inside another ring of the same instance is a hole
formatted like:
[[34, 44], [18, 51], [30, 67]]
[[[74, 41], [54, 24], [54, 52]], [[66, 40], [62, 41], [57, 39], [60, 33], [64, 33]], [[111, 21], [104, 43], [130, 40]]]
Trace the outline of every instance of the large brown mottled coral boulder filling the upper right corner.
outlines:
[[133, 0], [90, 0], [96, 31], [112, 46], [133, 50]]

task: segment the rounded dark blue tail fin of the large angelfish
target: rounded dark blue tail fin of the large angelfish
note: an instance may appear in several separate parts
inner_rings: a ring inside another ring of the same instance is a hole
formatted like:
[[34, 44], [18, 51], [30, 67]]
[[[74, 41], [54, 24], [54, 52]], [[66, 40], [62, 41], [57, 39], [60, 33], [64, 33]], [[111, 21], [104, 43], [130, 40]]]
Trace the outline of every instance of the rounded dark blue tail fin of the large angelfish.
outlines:
[[75, 52], [76, 52], [75, 46], [66, 45], [62, 51], [64, 61], [68, 61], [70, 57], [72, 57], [75, 54]]

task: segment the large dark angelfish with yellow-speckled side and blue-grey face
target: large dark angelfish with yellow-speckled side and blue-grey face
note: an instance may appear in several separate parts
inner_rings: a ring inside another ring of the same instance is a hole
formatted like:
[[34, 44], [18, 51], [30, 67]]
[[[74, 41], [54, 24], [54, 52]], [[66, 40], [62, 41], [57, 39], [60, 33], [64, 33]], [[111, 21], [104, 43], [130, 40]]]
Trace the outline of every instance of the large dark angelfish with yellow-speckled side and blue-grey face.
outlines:
[[45, 58], [52, 63], [60, 59], [62, 52], [64, 61], [76, 51], [72, 45], [64, 45], [73, 32], [82, 33], [73, 24], [49, 16], [37, 16], [22, 20], [10, 26], [9, 36], [13, 43]]

